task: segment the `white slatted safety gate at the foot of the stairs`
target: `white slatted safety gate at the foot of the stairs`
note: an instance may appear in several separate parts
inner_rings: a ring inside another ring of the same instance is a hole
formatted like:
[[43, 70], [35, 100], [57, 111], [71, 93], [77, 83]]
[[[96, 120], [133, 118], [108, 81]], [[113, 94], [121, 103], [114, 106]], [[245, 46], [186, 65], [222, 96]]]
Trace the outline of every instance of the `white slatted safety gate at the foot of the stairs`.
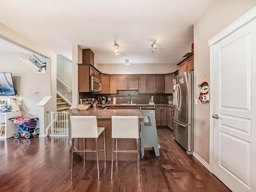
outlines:
[[68, 137], [70, 116], [68, 112], [49, 112], [50, 137]]

